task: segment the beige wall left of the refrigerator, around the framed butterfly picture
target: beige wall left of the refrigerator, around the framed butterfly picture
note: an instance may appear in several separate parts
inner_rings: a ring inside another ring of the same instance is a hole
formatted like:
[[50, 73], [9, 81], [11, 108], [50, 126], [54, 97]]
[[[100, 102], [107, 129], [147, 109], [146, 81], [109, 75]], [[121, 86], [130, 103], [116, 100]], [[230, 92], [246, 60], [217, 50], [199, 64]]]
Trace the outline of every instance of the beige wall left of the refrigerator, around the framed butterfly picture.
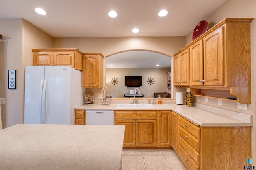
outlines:
[[[0, 19], [0, 90], [5, 98], [2, 127], [24, 123], [25, 66], [32, 65], [32, 48], [52, 48], [53, 38], [23, 19]], [[42, 41], [38, 41], [38, 39]], [[16, 70], [16, 89], [8, 89], [8, 70]], [[6, 114], [7, 113], [7, 114]]]

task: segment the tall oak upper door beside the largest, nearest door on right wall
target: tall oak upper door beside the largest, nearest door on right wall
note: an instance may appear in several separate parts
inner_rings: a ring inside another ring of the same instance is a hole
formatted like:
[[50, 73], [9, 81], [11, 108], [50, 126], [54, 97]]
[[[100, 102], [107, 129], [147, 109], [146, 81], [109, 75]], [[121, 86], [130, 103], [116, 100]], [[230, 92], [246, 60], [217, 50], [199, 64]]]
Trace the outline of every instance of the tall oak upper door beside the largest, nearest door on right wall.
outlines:
[[204, 61], [202, 39], [190, 47], [190, 85], [203, 85]]

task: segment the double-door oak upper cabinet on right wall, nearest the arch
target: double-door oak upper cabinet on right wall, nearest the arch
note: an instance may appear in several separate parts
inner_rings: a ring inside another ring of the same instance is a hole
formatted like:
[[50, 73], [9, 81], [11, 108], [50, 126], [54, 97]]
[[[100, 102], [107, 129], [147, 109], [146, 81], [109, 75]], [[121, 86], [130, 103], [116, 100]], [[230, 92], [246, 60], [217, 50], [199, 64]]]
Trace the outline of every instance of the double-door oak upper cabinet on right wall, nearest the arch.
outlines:
[[184, 49], [174, 56], [174, 86], [190, 85], [190, 51]]

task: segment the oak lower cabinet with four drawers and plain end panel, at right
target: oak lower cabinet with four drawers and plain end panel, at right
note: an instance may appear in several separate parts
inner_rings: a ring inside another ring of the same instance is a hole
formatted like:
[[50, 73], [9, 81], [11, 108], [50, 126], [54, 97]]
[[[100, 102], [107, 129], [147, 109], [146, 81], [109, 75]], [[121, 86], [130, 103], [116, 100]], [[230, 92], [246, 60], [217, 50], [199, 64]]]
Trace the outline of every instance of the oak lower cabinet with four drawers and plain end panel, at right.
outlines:
[[251, 127], [201, 127], [178, 115], [178, 156], [188, 170], [243, 169], [251, 158]]

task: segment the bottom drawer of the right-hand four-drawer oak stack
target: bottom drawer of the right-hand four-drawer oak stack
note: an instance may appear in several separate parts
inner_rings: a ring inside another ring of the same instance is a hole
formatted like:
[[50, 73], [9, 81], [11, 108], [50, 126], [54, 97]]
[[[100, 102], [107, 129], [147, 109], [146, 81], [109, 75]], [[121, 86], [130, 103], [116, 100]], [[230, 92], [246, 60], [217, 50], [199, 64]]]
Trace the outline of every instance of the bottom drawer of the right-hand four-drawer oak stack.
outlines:
[[194, 162], [194, 160], [188, 155], [188, 153], [182, 147], [180, 147], [180, 145], [178, 155], [189, 170], [200, 170], [198, 164]]

